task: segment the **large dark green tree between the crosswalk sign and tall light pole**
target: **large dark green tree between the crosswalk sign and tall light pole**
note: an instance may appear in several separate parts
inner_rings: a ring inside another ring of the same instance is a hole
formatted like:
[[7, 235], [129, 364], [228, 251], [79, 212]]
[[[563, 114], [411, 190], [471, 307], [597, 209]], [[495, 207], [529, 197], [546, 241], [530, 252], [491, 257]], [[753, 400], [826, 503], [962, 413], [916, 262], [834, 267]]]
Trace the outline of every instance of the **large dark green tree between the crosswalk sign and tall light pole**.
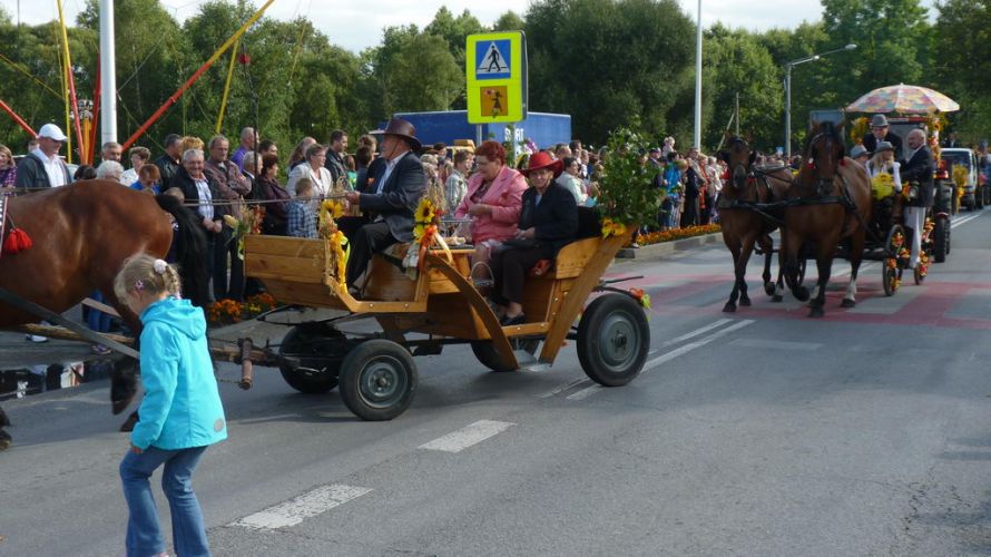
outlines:
[[695, 26], [675, 0], [541, 0], [526, 32], [531, 109], [575, 116], [587, 143], [635, 118], [653, 137], [690, 121], [690, 109], [670, 113], [695, 56]]

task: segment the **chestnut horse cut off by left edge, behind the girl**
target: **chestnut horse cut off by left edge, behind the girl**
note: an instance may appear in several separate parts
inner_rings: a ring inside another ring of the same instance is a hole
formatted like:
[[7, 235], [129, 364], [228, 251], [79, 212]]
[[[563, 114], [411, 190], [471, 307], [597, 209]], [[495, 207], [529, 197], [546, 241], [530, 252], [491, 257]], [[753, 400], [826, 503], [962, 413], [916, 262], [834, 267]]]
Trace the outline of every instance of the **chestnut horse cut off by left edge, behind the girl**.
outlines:
[[[135, 338], [141, 323], [114, 294], [114, 277], [124, 260], [143, 252], [165, 257], [175, 219], [180, 267], [204, 267], [206, 240], [196, 214], [167, 195], [151, 196], [111, 180], [85, 180], [12, 197], [7, 214], [4, 232], [9, 234], [11, 226], [17, 226], [28, 233], [33, 245], [0, 255], [0, 286], [56, 313], [99, 290]], [[187, 284], [185, 289], [205, 291], [202, 284]], [[37, 316], [0, 303], [0, 329], [36, 322]], [[133, 363], [128, 360], [124, 362]], [[110, 388], [114, 413], [127, 408], [134, 398], [135, 371], [135, 365], [116, 367]]]

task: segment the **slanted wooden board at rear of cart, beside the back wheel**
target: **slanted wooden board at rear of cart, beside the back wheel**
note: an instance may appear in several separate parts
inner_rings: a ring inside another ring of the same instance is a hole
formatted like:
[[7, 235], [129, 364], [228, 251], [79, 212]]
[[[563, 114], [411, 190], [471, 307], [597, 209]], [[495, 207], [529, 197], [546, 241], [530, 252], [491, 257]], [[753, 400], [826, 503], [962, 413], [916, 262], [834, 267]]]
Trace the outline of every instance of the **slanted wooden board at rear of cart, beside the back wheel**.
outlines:
[[[636, 229], [637, 227], [632, 226], [631, 228]], [[627, 241], [629, 241], [628, 235], [609, 236], [606, 240], [599, 241], [599, 248], [588, 261], [588, 264], [578, 277], [575, 278], [571, 289], [563, 296], [563, 303], [551, 322], [550, 331], [547, 333], [547, 340], [540, 351], [540, 361], [542, 363], [553, 363], [555, 358], [558, 355], [558, 351], [561, 350], [561, 343], [565, 342], [565, 338], [568, 335], [568, 331], [575, 322], [575, 317], [577, 317], [578, 312], [585, 307], [585, 301], [588, 299], [588, 295], [591, 294], [592, 289], [599, 284], [599, 280], [601, 280], [606, 268], [612, 263], [619, 248], [622, 247]], [[561, 251], [563, 252], [563, 250]]]

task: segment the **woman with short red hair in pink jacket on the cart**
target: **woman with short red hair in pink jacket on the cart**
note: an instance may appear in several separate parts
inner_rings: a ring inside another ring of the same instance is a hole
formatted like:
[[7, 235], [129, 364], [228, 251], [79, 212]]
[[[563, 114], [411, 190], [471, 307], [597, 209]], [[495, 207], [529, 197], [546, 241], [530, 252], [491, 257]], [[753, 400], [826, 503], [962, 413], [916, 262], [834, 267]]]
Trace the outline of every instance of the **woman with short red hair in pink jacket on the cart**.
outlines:
[[478, 172], [469, 178], [454, 218], [471, 217], [474, 263], [479, 263], [488, 262], [489, 254], [516, 234], [527, 180], [506, 166], [506, 149], [499, 141], [482, 141], [474, 156]]

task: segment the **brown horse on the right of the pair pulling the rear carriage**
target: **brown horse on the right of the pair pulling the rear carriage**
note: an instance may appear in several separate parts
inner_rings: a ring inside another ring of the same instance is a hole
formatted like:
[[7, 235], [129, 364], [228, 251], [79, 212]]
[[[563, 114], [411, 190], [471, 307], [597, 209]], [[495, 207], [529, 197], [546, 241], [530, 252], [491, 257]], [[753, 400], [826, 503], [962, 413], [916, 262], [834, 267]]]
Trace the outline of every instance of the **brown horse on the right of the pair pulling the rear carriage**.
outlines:
[[808, 315], [821, 317], [833, 257], [841, 241], [847, 244], [851, 268], [842, 306], [856, 305], [856, 276], [866, 226], [871, 222], [871, 180], [863, 166], [845, 156], [842, 134], [833, 123], [813, 127], [804, 153], [785, 208], [785, 278], [795, 297], [810, 299], [808, 289], [798, 281], [798, 253], [806, 242], [811, 243], [818, 280]]

